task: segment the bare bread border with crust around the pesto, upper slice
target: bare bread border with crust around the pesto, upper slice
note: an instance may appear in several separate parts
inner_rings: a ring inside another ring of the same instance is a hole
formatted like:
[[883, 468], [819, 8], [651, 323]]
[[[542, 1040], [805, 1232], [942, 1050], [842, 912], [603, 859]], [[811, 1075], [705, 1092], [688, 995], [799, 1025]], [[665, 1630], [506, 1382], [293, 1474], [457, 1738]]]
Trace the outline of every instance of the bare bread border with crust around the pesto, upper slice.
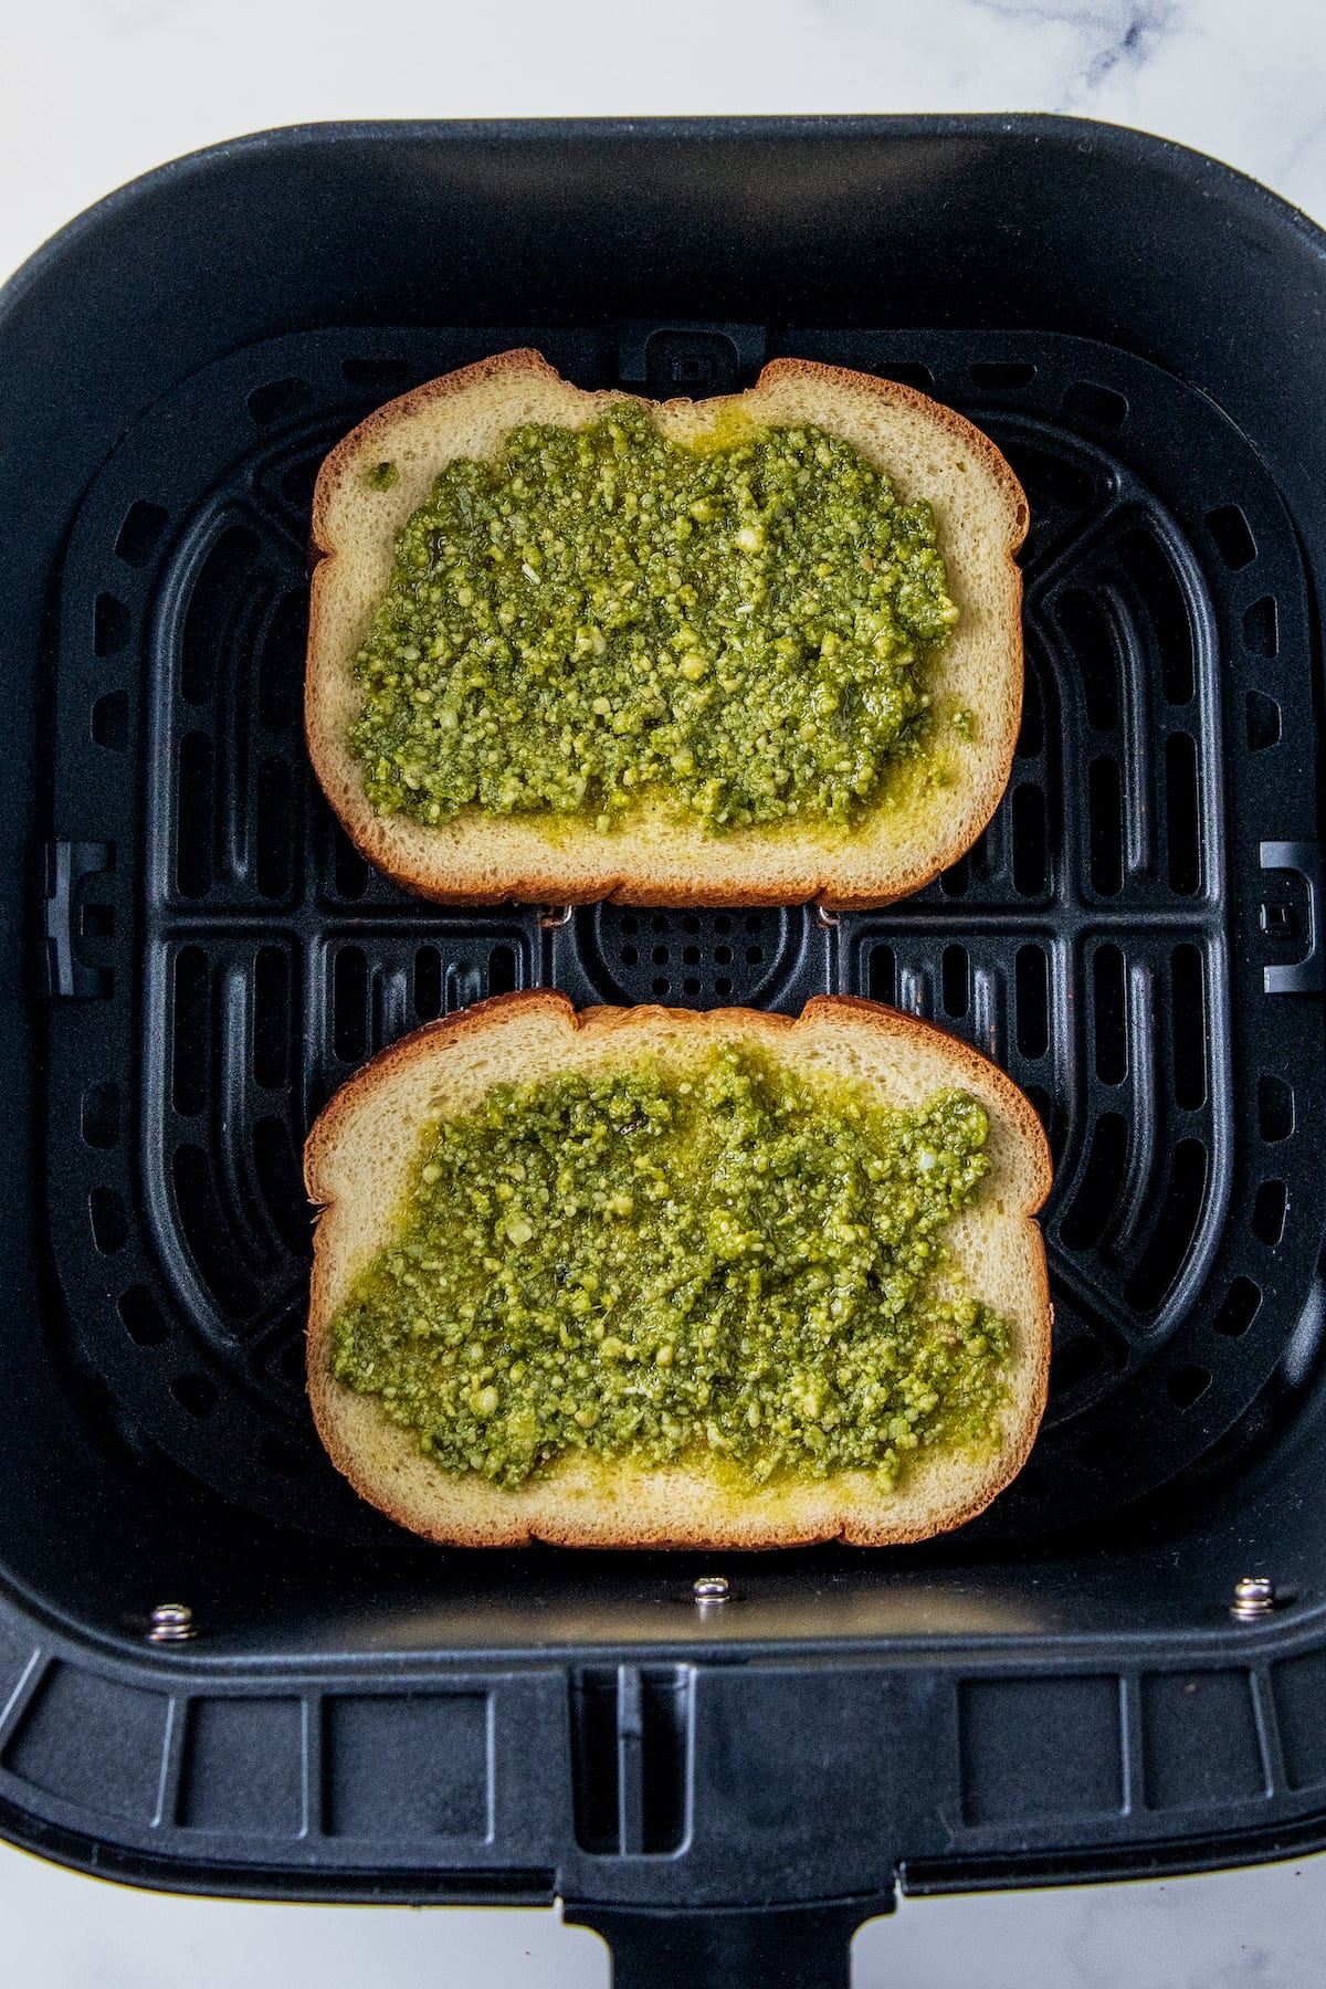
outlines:
[[[978, 430], [912, 388], [809, 360], [773, 360], [746, 394], [654, 406], [686, 442], [732, 406], [753, 424], [813, 424], [889, 473], [903, 499], [934, 505], [948, 593], [960, 621], [930, 662], [938, 710], [968, 710], [972, 736], [944, 730], [948, 784], [912, 784], [851, 831], [749, 825], [722, 835], [666, 802], [602, 833], [592, 817], [493, 815], [467, 808], [427, 827], [376, 815], [348, 748], [360, 710], [354, 654], [392, 577], [394, 539], [455, 457], [493, 457], [523, 422], [582, 428], [630, 394], [584, 394], [537, 352], [503, 352], [390, 402], [336, 448], [312, 511], [312, 605], [304, 726], [322, 788], [370, 863], [443, 903], [887, 905], [920, 889], [976, 841], [1008, 784], [1022, 714], [1022, 577], [1014, 553], [1028, 507], [1012, 469]], [[400, 471], [376, 489], [374, 465]], [[912, 792], [914, 790], [914, 792]]]

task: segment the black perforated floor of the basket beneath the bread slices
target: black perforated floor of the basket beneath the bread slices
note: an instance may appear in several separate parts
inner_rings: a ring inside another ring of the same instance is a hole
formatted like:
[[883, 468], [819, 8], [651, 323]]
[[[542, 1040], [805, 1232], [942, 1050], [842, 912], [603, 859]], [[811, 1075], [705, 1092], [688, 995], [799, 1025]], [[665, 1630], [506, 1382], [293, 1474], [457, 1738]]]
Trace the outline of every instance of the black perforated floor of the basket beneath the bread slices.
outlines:
[[869, 917], [451, 913], [374, 875], [308, 772], [308, 505], [368, 408], [513, 344], [586, 388], [662, 354], [704, 392], [763, 356], [744, 326], [286, 336], [157, 402], [82, 505], [56, 819], [93, 794], [105, 843], [48, 853], [50, 1223], [117, 1412], [252, 1512], [382, 1537], [302, 1396], [298, 1156], [332, 1090], [505, 989], [785, 1010], [841, 991], [976, 1042], [1054, 1148], [1052, 1404], [976, 1537], [1237, 1454], [1306, 1370], [1326, 1211], [1304, 1138], [1320, 1014], [1292, 998], [1320, 987], [1308, 609], [1258, 457], [1199, 392], [1085, 340], [769, 340], [938, 394], [1026, 485], [1026, 712], [998, 815]]

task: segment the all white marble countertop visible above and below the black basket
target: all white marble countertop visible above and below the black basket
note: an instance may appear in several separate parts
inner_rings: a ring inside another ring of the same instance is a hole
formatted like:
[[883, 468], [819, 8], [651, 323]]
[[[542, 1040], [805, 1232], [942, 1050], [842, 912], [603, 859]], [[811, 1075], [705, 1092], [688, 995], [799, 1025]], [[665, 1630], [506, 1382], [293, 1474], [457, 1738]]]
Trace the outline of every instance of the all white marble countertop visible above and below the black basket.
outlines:
[[[402, 54], [408, 46], [408, 54]], [[1320, 0], [64, 0], [0, 32], [0, 274], [111, 187], [328, 117], [1072, 111], [1211, 151], [1326, 223]], [[602, 1989], [549, 1911], [129, 1892], [0, 1848], [14, 1989]], [[1318, 1989], [1326, 1856], [1252, 1872], [903, 1901], [857, 1989]], [[736, 1989], [736, 1985], [734, 1985]]]

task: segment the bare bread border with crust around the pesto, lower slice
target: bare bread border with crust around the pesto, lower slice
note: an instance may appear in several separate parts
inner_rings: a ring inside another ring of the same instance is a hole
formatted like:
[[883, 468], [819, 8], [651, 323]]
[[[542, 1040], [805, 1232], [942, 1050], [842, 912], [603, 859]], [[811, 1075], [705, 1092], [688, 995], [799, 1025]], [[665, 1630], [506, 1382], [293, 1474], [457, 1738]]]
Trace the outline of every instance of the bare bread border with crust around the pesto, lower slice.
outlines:
[[[638, 1466], [584, 1452], [501, 1490], [439, 1470], [376, 1396], [332, 1378], [330, 1325], [356, 1275], [394, 1233], [429, 1118], [473, 1110], [493, 1084], [565, 1070], [622, 1068], [654, 1056], [694, 1066], [716, 1040], [753, 1042], [793, 1064], [865, 1086], [914, 1110], [944, 1088], [990, 1116], [990, 1172], [944, 1243], [970, 1293], [1010, 1327], [1008, 1396], [992, 1452], [916, 1450], [897, 1490], [873, 1472], [734, 1488], [706, 1462]], [[322, 1213], [308, 1315], [308, 1394], [318, 1434], [354, 1488], [402, 1526], [455, 1545], [779, 1547], [815, 1539], [887, 1545], [974, 1518], [1022, 1468], [1046, 1404], [1050, 1291], [1034, 1221], [1050, 1189], [1050, 1152], [1034, 1108], [994, 1064], [928, 1022], [843, 996], [809, 1000], [793, 1022], [751, 1008], [586, 1008], [565, 994], [501, 994], [431, 1022], [376, 1056], [332, 1098], [304, 1150]]]

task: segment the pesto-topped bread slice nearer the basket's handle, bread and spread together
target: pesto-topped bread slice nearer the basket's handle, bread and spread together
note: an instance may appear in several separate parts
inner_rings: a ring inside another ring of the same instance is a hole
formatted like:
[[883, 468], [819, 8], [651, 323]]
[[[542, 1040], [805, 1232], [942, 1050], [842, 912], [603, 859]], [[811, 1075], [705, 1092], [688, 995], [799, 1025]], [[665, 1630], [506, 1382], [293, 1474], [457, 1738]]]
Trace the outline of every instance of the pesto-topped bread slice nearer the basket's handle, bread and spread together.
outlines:
[[304, 1170], [318, 1434], [429, 1539], [922, 1539], [1032, 1448], [1046, 1138], [928, 1022], [507, 994], [374, 1058]]

